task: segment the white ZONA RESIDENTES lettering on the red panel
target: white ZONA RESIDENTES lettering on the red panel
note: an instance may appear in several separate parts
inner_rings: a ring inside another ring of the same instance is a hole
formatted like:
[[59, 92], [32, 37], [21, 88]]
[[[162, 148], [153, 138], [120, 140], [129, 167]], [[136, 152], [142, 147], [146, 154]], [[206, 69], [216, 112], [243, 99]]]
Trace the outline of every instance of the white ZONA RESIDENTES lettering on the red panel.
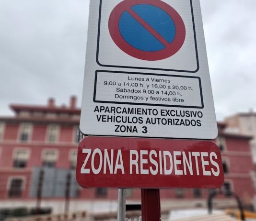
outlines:
[[[125, 171], [122, 150], [101, 151], [98, 148], [94, 150], [83, 148], [82, 153], [86, 156], [81, 166], [81, 174], [97, 175], [101, 172], [117, 174], [120, 171], [122, 174], [186, 176], [194, 175], [193, 169], [195, 169], [197, 176], [218, 177], [220, 175], [218, 156], [215, 152], [129, 150], [129, 171]], [[198, 163], [199, 161], [201, 164]]]

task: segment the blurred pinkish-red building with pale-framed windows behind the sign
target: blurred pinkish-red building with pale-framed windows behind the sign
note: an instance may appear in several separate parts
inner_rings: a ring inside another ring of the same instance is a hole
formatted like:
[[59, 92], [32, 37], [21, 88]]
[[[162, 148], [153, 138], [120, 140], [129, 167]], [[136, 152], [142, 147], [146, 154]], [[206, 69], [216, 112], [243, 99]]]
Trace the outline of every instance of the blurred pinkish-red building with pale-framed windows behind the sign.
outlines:
[[[0, 205], [7, 201], [35, 201], [40, 186], [40, 170], [45, 170], [46, 180], [42, 185], [46, 186], [41, 192], [44, 200], [64, 200], [67, 188], [70, 188], [72, 200], [117, 199], [117, 189], [82, 189], [75, 183], [77, 146], [81, 137], [81, 110], [76, 107], [75, 97], [70, 98], [68, 107], [57, 107], [54, 99], [49, 99], [46, 106], [15, 104], [11, 105], [11, 109], [15, 113], [13, 117], [0, 117]], [[218, 124], [219, 136], [214, 141], [222, 153], [225, 171], [223, 188], [234, 191], [250, 204], [255, 195], [254, 165], [249, 144], [251, 137], [225, 133], [225, 126], [224, 123]], [[71, 187], [66, 180], [69, 173], [72, 175]], [[52, 182], [52, 179], [56, 180]], [[161, 199], [207, 199], [210, 191], [162, 189]], [[128, 189], [127, 199], [140, 200], [140, 189]]]

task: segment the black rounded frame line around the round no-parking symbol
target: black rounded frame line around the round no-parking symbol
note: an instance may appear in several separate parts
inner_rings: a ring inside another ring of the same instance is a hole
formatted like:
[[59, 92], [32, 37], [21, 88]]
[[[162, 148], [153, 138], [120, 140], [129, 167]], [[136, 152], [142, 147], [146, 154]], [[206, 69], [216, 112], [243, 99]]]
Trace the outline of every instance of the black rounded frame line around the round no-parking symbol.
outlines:
[[99, 66], [104, 67], [122, 67], [122, 68], [136, 68], [136, 69], [145, 69], [145, 70], [162, 70], [162, 71], [176, 71], [176, 72], [186, 72], [186, 73], [196, 73], [199, 70], [199, 60], [198, 60], [198, 44], [197, 44], [197, 35], [195, 28], [195, 19], [192, 0], [190, 0], [191, 14], [192, 14], [192, 23], [194, 30], [194, 40], [195, 40], [195, 49], [196, 49], [196, 59], [197, 59], [197, 69], [194, 71], [189, 70], [176, 70], [176, 69], [162, 69], [162, 68], [152, 68], [152, 67], [136, 67], [136, 66], [114, 66], [114, 65], [103, 65], [99, 62], [99, 44], [100, 44], [100, 28], [101, 28], [101, 12], [102, 12], [102, 0], [100, 0], [99, 8], [99, 22], [98, 22], [98, 36], [97, 36], [97, 51], [96, 51], [96, 62]]

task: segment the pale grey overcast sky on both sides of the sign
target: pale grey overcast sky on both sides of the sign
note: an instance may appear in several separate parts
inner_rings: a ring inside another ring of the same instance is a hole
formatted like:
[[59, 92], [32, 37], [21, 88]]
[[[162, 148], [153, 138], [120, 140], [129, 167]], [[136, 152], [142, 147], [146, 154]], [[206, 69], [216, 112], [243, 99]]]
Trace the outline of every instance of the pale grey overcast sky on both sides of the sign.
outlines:
[[[256, 110], [256, 0], [200, 0], [217, 120]], [[81, 105], [89, 0], [0, 0], [0, 115]]]

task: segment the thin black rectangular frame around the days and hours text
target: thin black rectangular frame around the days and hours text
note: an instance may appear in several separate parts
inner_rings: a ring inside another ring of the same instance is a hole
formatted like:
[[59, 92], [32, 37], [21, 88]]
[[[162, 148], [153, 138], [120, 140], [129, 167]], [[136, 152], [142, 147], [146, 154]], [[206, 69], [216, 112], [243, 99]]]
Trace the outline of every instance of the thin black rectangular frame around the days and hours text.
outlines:
[[[155, 75], [155, 76], [168, 76], [168, 77], [186, 77], [186, 78], [197, 78], [199, 81], [199, 88], [200, 88], [200, 96], [201, 96], [201, 107], [195, 106], [181, 106], [181, 105], [164, 105], [164, 104], [145, 104], [145, 103], [132, 103], [132, 102], [117, 102], [117, 101], [102, 101], [96, 100], [96, 88], [97, 88], [97, 77], [98, 72], [105, 72], [105, 73], [119, 73], [119, 74], [140, 74], [140, 75]], [[201, 78], [195, 76], [179, 76], [179, 75], [163, 75], [163, 74], [152, 74], [152, 73], [140, 73], [140, 72], [127, 72], [127, 71], [106, 71], [106, 70], [96, 70], [95, 71], [95, 79], [94, 79], [94, 90], [93, 90], [93, 102], [94, 103], [108, 103], [108, 104], [128, 104], [128, 105], [145, 105], [145, 106], [161, 106], [161, 107], [175, 107], [175, 108], [196, 108], [196, 109], [203, 109], [204, 108], [204, 101], [203, 101], [203, 93], [202, 93], [202, 85], [201, 85]]]

